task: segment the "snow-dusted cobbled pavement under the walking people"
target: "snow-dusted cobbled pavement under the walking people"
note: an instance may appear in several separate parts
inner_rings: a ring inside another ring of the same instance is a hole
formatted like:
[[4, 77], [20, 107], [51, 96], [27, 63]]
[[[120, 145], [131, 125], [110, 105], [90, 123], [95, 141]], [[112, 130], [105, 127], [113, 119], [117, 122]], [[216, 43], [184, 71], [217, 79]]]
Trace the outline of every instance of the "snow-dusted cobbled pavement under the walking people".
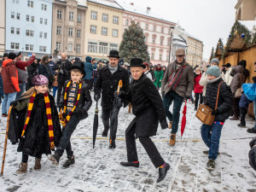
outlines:
[[[108, 138], [102, 138], [102, 119], [99, 118], [96, 148], [92, 148], [92, 125], [96, 103], [93, 102], [89, 118], [81, 121], [73, 133], [72, 146], [75, 164], [63, 169], [66, 154], [59, 166], [52, 165], [43, 155], [42, 169], [34, 171], [34, 158], [30, 157], [28, 172], [17, 175], [21, 153], [17, 145], [8, 143], [4, 175], [0, 177], [0, 191], [249, 191], [256, 192], [256, 172], [249, 166], [248, 151], [251, 137], [245, 128], [238, 128], [238, 121], [226, 121], [220, 141], [220, 155], [213, 172], [207, 171], [207, 150], [201, 141], [201, 122], [195, 118], [194, 106], [189, 103], [187, 125], [183, 138], [177, 133], [175, 147], [168, 145], [170, 130], [152, 137], [160, 154], [170, 163], [171, 169], [164, 181], [156, 183], [158, 170], [148, 158], [143, 146], [137, 142], [139, 168], [119, 165], [126, 160], [125, 128], [134, 116], [121, 108], [119, 113], [117, 148], [108, 148]], [[182, 107], [183, 108], [183, 107]], [[181, 111], [182, 112], [182, 111]], [[101, 116], [101, 109], [99, 113]], [[6, 118], [0, 118], [0, 162], [3, 158]], [[182, 119], [182, 115], [181, 118]], [[253, 120], [247, 118], [247, 127], [253, 127]]]

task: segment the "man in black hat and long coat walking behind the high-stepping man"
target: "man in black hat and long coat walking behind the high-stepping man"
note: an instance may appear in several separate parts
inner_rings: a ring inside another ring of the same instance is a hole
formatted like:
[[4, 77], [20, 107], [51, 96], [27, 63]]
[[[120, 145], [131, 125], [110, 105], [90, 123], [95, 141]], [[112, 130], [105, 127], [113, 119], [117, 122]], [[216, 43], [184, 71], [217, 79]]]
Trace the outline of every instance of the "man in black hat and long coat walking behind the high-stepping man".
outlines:
[[[113, 110], [114, 91], [118, 89], [119, 80], [123, 81], [122, 90], [125, 92], [129, 90], [128, 72], [124, 67], [119, 67], [118, 65], [119, 51], [110, 50], [108, 57], [109, 63], [100, 69], [94, 89], [95, 101], [101, 98], [102, 93], [102, 121], [104, 125], [102, 137], [108, 136], [109, 118]], [[115, 138], [112, 139], [109, 148], [115, 148]]]

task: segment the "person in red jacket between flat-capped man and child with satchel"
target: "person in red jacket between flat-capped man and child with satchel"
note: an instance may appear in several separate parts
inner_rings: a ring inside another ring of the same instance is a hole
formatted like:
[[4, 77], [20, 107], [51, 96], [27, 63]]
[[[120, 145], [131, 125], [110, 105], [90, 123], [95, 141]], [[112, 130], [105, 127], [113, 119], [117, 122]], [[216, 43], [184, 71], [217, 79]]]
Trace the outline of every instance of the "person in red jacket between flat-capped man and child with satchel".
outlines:
[[199, 102], [199, 98], [200, 98], [200, 104], [202, 104], [203, 102], [203, 98], [202, 98], [202, 90], [203, 90], [203, 86], [201, 86], [199, 84], [199, 81], [201, 79], [201, 67], [196, 67], [195, 68], [195, 77], [194, 77], [194, 93], [195, 93], [195, 111], [198, 108], [198, 102]]

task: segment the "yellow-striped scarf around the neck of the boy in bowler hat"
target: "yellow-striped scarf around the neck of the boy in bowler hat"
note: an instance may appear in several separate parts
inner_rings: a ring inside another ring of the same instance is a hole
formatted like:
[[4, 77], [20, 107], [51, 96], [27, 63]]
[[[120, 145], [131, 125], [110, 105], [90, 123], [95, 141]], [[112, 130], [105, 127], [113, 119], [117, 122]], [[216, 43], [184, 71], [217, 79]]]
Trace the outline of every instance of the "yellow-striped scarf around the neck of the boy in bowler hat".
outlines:
[[[72, 80], [69, 81], [67, 83], [66, 89], [65, 89], [65, 94], [64, 94], [64, 110], [63, 113], [67, 112], [67, 90], [69, 88], [69, 85], [72, 83]], [[82, 81], [79, 81], [79, 92], [78, 92], [78, 96], [77, 96], [77, 102], [74, 104], [72, 110], [70, 113], [68, 113], [66, 119], [61, 119], [61, 124], [65, 127], [69, 121], [69, 119], [71, 118], [71, 115], [73, 114], [73, 111], [75, 110], [75, 108], [77, 107], [78, 103], [79, 103], [79, 99], [81, 96], [81, 87], [82, 87]]]

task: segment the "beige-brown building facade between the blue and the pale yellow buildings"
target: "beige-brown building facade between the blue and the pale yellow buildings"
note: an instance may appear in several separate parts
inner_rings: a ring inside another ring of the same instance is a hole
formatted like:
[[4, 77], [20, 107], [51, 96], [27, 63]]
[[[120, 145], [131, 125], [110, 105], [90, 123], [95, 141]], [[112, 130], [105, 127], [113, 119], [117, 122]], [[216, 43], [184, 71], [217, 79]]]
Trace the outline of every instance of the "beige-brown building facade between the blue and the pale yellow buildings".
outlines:
[[85, 2], [76, 0], [54, 0], [52, 23], [52, 54], [65, 52], [68, 59], [84, 60]]

